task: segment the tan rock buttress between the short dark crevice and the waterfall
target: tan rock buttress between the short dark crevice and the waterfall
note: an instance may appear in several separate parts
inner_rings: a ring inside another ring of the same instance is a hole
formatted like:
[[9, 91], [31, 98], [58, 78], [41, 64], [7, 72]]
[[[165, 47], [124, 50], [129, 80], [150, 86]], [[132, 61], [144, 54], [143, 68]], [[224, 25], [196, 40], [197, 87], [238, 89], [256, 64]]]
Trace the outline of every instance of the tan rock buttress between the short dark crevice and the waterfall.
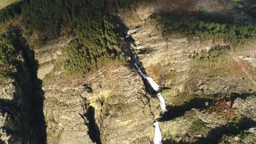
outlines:
[[92, 92], [82, 96], [95, 109], [102, 144], [150, 143], [154, 117], [148, 95], [136, 71], [119, 66], [104, 69], [85, 82]]

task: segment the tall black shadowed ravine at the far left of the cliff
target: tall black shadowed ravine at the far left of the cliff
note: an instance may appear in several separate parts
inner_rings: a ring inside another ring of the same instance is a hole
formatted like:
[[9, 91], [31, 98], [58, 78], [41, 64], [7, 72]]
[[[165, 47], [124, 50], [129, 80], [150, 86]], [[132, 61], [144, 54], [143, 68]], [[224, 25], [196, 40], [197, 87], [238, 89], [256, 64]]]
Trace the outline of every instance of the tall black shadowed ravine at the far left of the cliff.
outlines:
[[[34, 51], [26, 44], [25, 39], [21, 36], [20, 42], [17, 44], [23, 46], [24, 62], [20, 64], [21, 73], [16, 75], [16, 80], [23, 90], [22, 110], [21, 116], [24, 124], [23, 131], [25, 135], [24, 143], [46, 143], [46, 121], [43, 114], [44, 91], [42, 90], [42, 80], [37, 78], [37, 70], [39, 63], [35, 59]], [[23, 68], [22, 66], [26, 66]], [[26, 75], [27, 74], [27, 75]], [[27, 76], [27, 77], [26, 77]], [[30, 79], [27, 79], [29, 78]]]

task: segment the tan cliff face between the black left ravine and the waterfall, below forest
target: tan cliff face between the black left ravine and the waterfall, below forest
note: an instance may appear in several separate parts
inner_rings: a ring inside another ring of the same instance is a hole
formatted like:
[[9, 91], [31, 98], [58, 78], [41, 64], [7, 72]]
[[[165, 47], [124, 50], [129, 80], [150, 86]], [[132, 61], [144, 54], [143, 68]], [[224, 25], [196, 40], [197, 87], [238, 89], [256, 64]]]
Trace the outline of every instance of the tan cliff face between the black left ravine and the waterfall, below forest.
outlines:
[[[154, 116], [144, 83], [133, 68], [106, 66], [82, 79], [69, 80], [58, 68], [61, 56], [46, 60], [62, 49], [62, 43], [46, 44], [47, 54], [36, 51], [40, 65], [56, 65], [43, 78], [44, 115], [48, 143], [150, 143]], [[57, 48], [57, 49], [56, 49]], [[59, 48], [59, 50], [58, 50]], [[53, 50], [56, 49], [56, 50]], [[46, 56], [46, 57], [44, 57]], [[47, 66], [49, 67], [49, 66]], [[107, 68], [108, 67], [108, 68]], [[160, 112], [160, 111], [159, 111]], [[134, 131], [136, 129], [136, 131]]]

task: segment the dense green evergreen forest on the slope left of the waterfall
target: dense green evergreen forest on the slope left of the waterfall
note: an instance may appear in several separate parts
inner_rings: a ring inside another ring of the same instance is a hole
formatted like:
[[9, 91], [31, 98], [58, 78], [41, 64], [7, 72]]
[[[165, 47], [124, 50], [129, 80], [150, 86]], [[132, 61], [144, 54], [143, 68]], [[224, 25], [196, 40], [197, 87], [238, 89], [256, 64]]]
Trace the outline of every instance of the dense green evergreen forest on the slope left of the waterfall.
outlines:
[[[69, 74], [80, 75], [115, 59], [124, 61], [120, 55], [120, 42], [124, 36], [119, 33], [119, 25], [113, 20], [117, 20], [115, 16], [106, 11], [106, 5], [125, 7], [141, 0], [114, 0], [113, 3], [104, 0], [22, 2], [23, 35], [36, 34], [36, 46], [43, 45], [48, 39], [57, 38], [63, 32], [66, 37], [74, 37], [63, 50], [66, 60], [63, 66]], [[4, 16], [8, 17], [8, 14]], [[11, 14], [9, 16], [12, 17]]]

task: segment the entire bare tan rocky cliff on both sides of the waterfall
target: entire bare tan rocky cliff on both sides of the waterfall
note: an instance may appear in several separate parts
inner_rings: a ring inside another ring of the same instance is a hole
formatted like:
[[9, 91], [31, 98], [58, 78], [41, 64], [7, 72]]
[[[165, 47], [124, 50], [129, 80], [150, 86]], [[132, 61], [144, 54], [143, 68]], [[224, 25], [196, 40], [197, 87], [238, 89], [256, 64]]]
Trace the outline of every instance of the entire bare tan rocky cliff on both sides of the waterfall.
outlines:
[[[119, 15], [132, 28], [159, 11], [193, 17], [202, 7], [253, 21], [221, 0], [153, 0]], [[138, 26], [131, 37], [142, 46], [137, 64], [161, 86], [169, 112], [161, 115], [158, 98], [135, 69], [131, 43], [125, 65], [117, 62], [69, 78], [61, 55], [72, 39], [59, 38], [35, 48], [35, 56], [23, 49], [13, 65], [15, 78], [1, 83], [0, 142], [149, 144], [156, 119], [165, 144], [256, 142], [254, 46], [233, 52], [230, 66], [214, 74], [194, 67], [189, 56], [224, 42], [191, 42], [180, 35], [163, 39], [161, 26]]]

